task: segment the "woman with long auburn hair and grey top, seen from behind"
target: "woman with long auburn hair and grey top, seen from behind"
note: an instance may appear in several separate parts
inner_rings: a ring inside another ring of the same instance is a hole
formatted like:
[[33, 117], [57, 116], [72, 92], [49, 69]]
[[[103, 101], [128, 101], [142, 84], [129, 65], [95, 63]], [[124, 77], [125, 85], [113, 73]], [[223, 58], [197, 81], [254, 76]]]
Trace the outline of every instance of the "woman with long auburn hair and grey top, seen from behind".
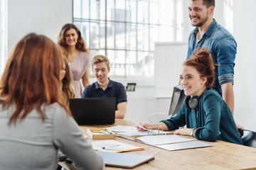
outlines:
[[1, 169], [56, 169], [59, 149], [78, 169], [104, 167], [59, 101], [62, 65], [44, 35], [26, 35], [11, 52], [0, 82]]

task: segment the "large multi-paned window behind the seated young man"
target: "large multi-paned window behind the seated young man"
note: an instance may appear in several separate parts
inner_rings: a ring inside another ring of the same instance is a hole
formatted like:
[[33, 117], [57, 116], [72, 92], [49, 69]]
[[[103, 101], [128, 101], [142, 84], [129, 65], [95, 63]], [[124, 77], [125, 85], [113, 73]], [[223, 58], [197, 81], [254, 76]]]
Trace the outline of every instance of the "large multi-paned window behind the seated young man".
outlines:
[[73, 23], [91, 58], [106, 55], [115, 77], [154, 77], [154, 42], [182, 40], [181, 0], [73, 0]]

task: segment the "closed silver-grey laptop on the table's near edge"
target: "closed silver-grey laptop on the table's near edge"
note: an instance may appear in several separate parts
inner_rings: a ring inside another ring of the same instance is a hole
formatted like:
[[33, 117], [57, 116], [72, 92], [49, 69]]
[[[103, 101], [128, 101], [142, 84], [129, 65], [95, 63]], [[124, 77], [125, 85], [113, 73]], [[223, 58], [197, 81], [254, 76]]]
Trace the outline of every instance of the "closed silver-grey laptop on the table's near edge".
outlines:
[[102, 156], [105, 166], [115, 166], [129, 169], [132, 169], [136, 166], [139, 166], [154, 159], [154, 156], [143, 154], [124, 154], [99, 151], [97, 151], [97, 153]]

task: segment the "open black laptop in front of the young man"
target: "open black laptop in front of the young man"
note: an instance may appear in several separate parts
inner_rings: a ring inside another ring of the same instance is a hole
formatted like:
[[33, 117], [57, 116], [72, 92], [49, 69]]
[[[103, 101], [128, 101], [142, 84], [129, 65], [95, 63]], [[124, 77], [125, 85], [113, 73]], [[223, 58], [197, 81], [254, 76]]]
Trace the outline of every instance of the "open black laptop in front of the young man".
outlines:
[[114, 123], [116, 98], [70, 98], [70, 111], [78, 125]]

